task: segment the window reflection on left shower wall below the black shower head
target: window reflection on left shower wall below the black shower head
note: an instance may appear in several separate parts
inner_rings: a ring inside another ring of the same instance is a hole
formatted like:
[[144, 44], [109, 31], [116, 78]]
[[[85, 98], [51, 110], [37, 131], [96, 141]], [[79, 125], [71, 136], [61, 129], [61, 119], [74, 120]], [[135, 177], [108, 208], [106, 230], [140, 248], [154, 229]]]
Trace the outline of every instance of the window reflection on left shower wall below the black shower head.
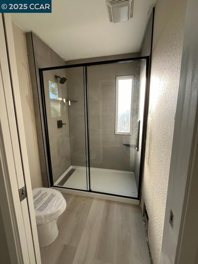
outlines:
[[61, 117], [61, 98], [58, 90], [58, 84], [49, 80], [49, 98], [50, 98], [50, 108], [51, 117], [59, 118]]

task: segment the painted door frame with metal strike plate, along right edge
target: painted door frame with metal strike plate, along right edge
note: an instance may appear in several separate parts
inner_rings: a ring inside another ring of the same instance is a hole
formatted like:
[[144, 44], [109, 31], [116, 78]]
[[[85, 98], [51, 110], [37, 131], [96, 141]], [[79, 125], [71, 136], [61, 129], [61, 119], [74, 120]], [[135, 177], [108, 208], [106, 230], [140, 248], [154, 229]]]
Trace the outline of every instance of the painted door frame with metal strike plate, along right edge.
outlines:
[[[198, 1], [187, 1], [162, 264], [197, 264], [198, 256]], [[170, 209], [174, 214], [170, 228]]]

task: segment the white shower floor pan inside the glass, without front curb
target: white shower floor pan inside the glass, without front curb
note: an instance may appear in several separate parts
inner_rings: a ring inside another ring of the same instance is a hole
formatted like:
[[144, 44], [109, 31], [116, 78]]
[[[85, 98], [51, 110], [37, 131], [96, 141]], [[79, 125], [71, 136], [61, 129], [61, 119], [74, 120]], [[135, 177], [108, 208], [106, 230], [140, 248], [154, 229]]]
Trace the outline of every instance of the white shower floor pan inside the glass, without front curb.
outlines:
[[[90, 168], [90, 183], [91, 190], [95, 192], [129, 197], [138, 195], [135, 175], [130, 171]], [[86, 167], [69, 167], [54, 186], [88, 190]]]

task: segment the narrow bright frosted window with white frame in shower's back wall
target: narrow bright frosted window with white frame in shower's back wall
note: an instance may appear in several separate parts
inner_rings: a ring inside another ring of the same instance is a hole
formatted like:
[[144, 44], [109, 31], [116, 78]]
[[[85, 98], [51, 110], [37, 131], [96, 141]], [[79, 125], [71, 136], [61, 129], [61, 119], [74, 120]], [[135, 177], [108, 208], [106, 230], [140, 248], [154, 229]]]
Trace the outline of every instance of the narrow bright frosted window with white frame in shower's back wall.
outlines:
[[134, 75], [116, 76], [115, 134], [132, 134]]

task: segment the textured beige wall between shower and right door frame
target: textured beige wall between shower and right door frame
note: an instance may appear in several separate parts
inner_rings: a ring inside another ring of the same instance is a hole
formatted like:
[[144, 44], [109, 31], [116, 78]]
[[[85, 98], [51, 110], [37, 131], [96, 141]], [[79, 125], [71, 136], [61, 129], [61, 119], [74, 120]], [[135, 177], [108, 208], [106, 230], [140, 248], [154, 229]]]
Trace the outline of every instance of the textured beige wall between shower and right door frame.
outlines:
[[186, 0], [158, 0], [155, 9], [149, 116], [142, 186], [153, 263], [160, 263]]

